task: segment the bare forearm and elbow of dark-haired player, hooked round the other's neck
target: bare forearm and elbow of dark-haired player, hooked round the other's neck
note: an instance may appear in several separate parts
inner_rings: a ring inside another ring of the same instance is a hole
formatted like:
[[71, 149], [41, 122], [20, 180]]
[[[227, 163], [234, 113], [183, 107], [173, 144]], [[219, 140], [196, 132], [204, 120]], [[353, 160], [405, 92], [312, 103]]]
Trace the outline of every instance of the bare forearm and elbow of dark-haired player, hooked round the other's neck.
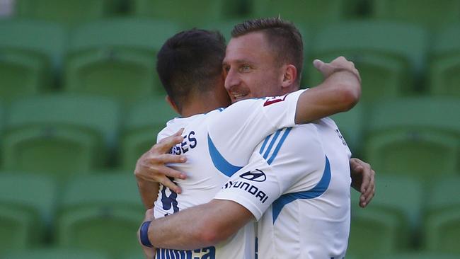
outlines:
[[307, 123], [353, 108], [361, 96], [361, 83], [352, 72], [341, 70], [320, 85], [304, 91], [297, 101], [295, 122]]

